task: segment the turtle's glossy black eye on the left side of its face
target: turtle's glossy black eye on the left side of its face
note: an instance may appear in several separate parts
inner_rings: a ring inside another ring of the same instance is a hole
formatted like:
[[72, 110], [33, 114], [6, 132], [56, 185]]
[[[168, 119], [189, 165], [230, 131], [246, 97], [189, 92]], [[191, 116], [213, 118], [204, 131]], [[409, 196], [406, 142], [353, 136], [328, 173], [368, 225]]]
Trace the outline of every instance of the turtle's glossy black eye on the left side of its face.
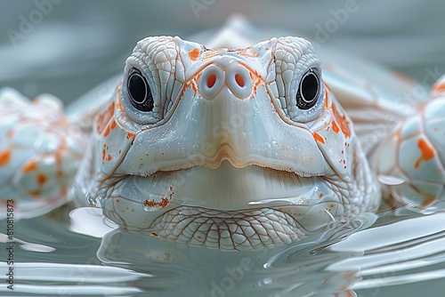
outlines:
[[130, 102], [141, 111], [153, 110], [153, 96], [150, 86], [142, 73], [137, 68], [131, 68], [126, 83]]

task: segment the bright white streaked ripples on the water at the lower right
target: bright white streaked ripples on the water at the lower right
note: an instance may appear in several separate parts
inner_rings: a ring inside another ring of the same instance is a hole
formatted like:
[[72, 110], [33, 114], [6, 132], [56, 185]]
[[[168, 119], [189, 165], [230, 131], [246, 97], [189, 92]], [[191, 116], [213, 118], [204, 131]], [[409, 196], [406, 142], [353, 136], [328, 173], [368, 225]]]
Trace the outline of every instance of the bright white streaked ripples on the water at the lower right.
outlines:
[[356, 251], [364, 255], [337, 261], [328, 269], [360, 268], [363, 280], [354, 289], [373, 289], [375, 293], [383, 286], [445, 277], [445, 213], [419, 217], [411, 213], [411, 217], [403, 219], [394, 222], [393, 217], [382, 217], [380, 226], [332, 245], [331, 251]]

